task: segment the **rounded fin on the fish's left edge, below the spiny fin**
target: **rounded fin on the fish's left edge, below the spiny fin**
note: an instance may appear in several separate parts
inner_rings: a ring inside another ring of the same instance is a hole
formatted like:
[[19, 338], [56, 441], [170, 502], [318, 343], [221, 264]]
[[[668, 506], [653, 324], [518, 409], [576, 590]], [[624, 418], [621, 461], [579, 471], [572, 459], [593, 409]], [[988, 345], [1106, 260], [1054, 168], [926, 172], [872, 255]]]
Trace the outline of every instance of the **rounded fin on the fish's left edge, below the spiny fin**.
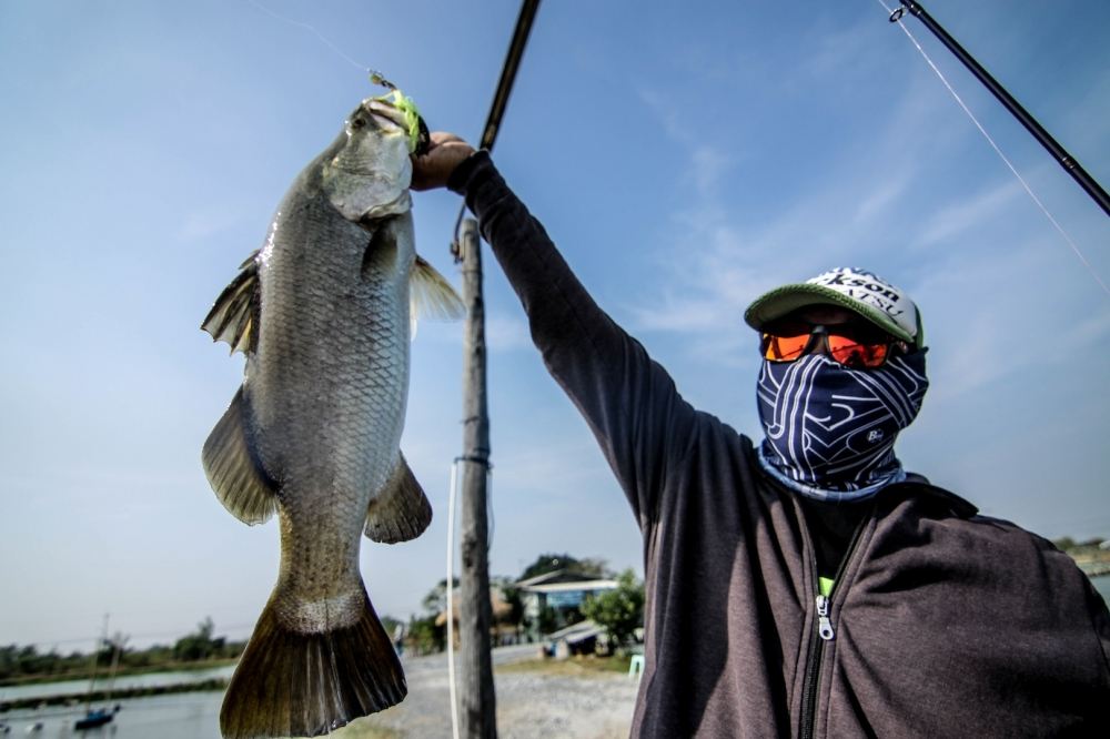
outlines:
[[248, 403], [240, 386], [228, 411], [204, 442], [201, 458], [220, 503], [244, 524], [261, 524], [278, 508], [278, 485], [254, 454]]

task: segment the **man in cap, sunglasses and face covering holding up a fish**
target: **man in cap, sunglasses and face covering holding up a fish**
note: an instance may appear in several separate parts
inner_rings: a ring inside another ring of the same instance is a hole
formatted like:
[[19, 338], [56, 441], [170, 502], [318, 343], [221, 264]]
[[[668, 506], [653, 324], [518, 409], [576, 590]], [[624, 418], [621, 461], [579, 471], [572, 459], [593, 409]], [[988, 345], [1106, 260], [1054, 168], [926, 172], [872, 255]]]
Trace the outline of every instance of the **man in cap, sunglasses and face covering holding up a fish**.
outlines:
[[695, 411], [591, 298], [486, 152], [433, 134], [644, 534], [645, 737], [1110, 733], [1110, 616], [1048, 541], [894, 454], [927, 379], [917, 308], [834, 270], [758, 298], [765, 439]]

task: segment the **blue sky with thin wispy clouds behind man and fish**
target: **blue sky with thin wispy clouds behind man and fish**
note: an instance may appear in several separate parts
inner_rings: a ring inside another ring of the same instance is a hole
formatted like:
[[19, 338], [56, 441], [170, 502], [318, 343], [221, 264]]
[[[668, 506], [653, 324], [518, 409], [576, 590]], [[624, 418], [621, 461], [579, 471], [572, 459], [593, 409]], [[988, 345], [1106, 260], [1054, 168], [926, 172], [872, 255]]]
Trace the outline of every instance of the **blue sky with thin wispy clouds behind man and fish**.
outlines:
[[[199, 328], [296, 172], [384, 71], [433, 128], [478, 138], [515, 1], [0, 3], [0, 642], [87, 648], [211, 616], [245, 636], [274, 524], [211, 493], [200, 448], [242, 377]], [[1110, 4], [929, 11], [1110, 185]], [[598, 302], [695, 405], [751, 436], [740, 321], [778, 283], [859, 265], [921, 307], [932, 386], [907, 467], [1049, 537], [1110, 536], [1110, 295], [875, 0], [544, 3], [495, 150]], [[1103, 280], [1110, 220], [932, 41], [910, 31]], [[415, 198], [447, 252], [458, 200]], [[486, 259], [494, 575], [542, 551], [640, 566], [585, 424]], [[413, 345], [403, 448], [436, 510], [366, 541], [382, 614], [444, 577], [462, 324]], [[71, 640], [77, 641], [71, 641]]]

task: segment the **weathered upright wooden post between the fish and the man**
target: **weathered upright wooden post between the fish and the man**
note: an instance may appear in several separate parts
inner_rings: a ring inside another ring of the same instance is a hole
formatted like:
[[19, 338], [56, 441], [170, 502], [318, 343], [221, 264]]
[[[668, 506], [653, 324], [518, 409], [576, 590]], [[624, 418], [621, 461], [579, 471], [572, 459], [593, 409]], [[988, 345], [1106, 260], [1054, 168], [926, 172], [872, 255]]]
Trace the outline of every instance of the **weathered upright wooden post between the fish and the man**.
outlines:
[[462, 642], [461, 736], [496, 739], [496, 699], [490, 656], [490, 526], [486, 484], [490, 477], [490, 417], [486, 411], [485, 305], [482, 298], [482, 251], [478, 225], [463, 221], [463, 479], [462, 573], [458, 637]]

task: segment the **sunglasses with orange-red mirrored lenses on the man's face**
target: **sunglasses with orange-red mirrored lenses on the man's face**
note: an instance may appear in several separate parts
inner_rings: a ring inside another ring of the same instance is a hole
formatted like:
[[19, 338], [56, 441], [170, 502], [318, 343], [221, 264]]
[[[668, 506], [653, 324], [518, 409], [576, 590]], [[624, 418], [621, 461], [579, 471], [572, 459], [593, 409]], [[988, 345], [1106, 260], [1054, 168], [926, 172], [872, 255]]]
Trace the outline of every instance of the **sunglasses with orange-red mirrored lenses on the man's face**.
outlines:
[[852, 370], [876, 370], [891, 353], [909, 353], [906, 342], [886, 334], [851, 326], [784, 325], [768, 327], [759, 342], [759, 352], [768, 362], [794, 362], [820, 345], [824, 354]]

